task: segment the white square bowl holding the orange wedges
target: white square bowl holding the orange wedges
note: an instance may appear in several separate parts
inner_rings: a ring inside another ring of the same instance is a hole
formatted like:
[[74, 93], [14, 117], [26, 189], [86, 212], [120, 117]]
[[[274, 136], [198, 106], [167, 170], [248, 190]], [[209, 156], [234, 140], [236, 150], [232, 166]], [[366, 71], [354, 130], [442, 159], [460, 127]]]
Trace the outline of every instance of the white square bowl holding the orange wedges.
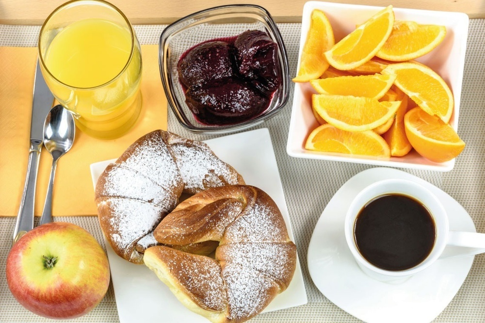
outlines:
[[[306, 2], [303, 7], [300, 50], [307, 39], [311, 21], [311, 12], [320, 9], [325, 13], [338, 42], [348, 33], [355, 30], [356, 25], [365, 22], [384, 7], [331, 3], [320, 1]], [[467, 48], [469, 17], [464, 13], [429, 11], [418, 9], [393, 8], [396, 20], [412, 20], [420, 24], [435, 24], [446, 26], [444, 40], [430, 53], [417, 58], [416, 61], [428, 65], [436, 71], [450, 86], [454, 97], [454, 111], [450, 125], [458, 129], [460, 111], [461, 87], [463, 69], [465, 66], [465, 51]], [[299, 67], [300, 63], [298, 63]], [[309, 83], [295, 83], [293, 106], [291, 111], [290, 129], [288, 133], [287, 153], [292, 157], [310, 158], [330, 161], [356, 162], [389, 167], [404, 167], [434, 171], [450, 171], [455, 159], [436, 163], [421, 157], [414, 149], [404, 157], [389, 159], [351, 156], [336, 153], [317, 152], [305, 149], [305, 142], [310, 132], [319, 126], [311, 111], [311, 95], [316, 93]]]

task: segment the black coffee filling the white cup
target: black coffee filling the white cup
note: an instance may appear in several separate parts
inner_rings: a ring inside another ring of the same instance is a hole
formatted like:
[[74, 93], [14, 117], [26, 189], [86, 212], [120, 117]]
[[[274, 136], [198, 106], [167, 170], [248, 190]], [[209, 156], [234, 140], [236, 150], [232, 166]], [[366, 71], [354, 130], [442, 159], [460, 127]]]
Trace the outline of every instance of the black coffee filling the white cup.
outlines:
[[391, 271], [420, 264], [436, 238], [435, 222], [426, 207], [400, 194], [369, 202], [357, 215], [354, 233], [362, 257]]

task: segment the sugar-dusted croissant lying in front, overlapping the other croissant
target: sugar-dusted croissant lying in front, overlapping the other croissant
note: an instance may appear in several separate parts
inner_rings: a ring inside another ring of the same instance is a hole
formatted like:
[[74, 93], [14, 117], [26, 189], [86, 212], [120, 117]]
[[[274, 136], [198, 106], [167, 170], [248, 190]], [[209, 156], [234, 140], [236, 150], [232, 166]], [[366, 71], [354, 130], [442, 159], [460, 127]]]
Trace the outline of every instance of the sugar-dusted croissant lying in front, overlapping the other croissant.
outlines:
[[259, 188], [212, 188], [180, 203], [154, 231], [171, 245], [219, 241], [215, 258], [167, 246], [146, 249], [144, 262], [181, 303], [212, 322], [244, 322], [286, 290], [296, 246], [271, 197]]

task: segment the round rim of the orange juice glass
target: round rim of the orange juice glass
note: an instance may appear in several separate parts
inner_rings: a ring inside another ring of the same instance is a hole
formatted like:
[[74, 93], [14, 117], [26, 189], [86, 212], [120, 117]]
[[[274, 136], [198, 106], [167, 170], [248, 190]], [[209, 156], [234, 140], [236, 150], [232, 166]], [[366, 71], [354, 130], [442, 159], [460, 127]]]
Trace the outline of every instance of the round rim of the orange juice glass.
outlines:
[[[50, 20], [50, 18], [52, 18], [52, 16], [54, 16], [56, 13], [58, 13], [59, 11], [61, 11], [62, 9], [64, 9], [65, 7], [69, 6], [70, 4], [74, 3], [74, 2], [99, 2], [99, 3], [102, 3], [108, 7], [111, 7], [112, 9], [114, 9], [122, 18], [123, 20], [126, 22], [128, 28], [129, 28], [129, 33], [130, 33], [130, 36], [131, 36], [131, 48], [130, 48], [130, 52], [129, 52], [129, 57], [128, 57], [128, 60], [125, 64], [125, 66], [123, 66], [123, 68], [121, 69], [121, 71], [116, 74], [116, 76], [114, 76], [111, 80], [107, 81], [107, 82], [104, 82], [102, 84], [99, 84], [99, 85], [96, 85], [96, 86], [91, 86], [91, 87], [78, 87], [78, 86], [73, 86], [73, 85], [69, 85], [69, 84], [66, 84], [65, 82], [59, 80], [58, 78], [56, 78], [54, 75], [52, 75], [52, 73], [50, 72], [49, 68], [46, 66], [46, 63], [44, 62], [44, 55], [42, 55], [42, 52], [41, 52], [41, 49], [40, 49], [40, 44], [41, 44], [41, 39], [42, 39], [42, 35], [43, 35], [43, 32], [44, 32], [44, 29], [48, 23], [48, 21]], [[40, 29], [40, 32], [39, 32], [39, 39], [38, 39], [38, 42], [37, 42], [37, 51], [38, 51], [38, 54], [39, 54], [39, 60], [40, 60], [40, 64], [44, 67], [44, 70], [49, 74], [49, 76], [55, 80], [56, 82], [66, 86], [66, 87], [69, 87], [69, 88], [72, 88], [72, 89], [76, 89], [76, 90], [94, 90], [94, 89], [98, 89], [98, 88], [101, 88], [101, 87], [104, 87], [106, 86], [107, 84], [111, 84], [113, 83], [113, 81], [116, 81], [117, 79], [119, 79], [121, 77], [121, 75], [127, 70], [132, 58], [133, 58], [133, 54], [134, 54], [134, 51], [135, 51], [135, 31], [133, 29], [133, 26], [131, 26], [131, 23], [129, 22], [128, 20], [128, 17], [120, 10], [118, 9], [118, 7], [116, 7], [114, 4], [108, 2], [108, 1], [105, 1], [105, 0], [69, 0], [63, 4], [61, 4], [60, 6], [58, 6], [56, 9], [54, 9], [50, 14], [49, 16], [46, 18], [46, 20], [44, 21], [44, 23], [42, 24], [42, 27]], [[141, 54], [141, 52], [140, 52]]]

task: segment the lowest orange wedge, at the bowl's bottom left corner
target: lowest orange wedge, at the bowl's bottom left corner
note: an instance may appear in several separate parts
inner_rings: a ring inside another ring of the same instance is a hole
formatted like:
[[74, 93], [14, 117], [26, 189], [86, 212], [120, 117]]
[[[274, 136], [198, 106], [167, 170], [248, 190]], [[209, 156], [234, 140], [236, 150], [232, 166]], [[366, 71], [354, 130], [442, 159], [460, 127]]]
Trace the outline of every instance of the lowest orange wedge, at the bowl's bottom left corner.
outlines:
[[388, 144], [374, 131], [351, 132], [324, 124], [314, 129], [307, 138], [305, 148], [332, 153], [388, 158]]

